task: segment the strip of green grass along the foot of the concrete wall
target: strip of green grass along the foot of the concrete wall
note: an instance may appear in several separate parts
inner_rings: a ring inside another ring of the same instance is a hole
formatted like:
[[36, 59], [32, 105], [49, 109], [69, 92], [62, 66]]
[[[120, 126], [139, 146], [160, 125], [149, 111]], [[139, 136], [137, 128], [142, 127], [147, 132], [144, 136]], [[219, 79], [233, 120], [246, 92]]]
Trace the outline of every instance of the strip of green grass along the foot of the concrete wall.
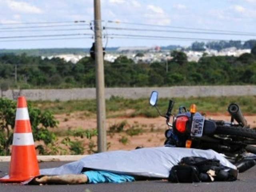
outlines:
[[[189, 109], [190, 104], [194, 103], [197, 106], [198, 112], [213, 112], [223, 113], [227, 111], [230, 103], [236, 103], [244, 114], [256, 114], [256, 96], [239, 96], [239, 97], [202, 97], [202, 98], [173, 98], [175, 101], [173, 113], [178, 112], [179, 106], [186, 106]], [[159, 99], [158, 108], [162, 114], [166, 113], [169, 99]], [[40, 110], [49, 110], [53, 114], [70, 114], [76, 111], [84, 111], [85, 116], [92, 116], [96, 114], [96, 100], [72, 100], [72, 101], [36, 101], [29, 102], [32, 106]], [[124, 110], [133, 109], [134, 112], [130, 117], [159, 116], [156, 109], [149, 105], [148, 98], [141, 98], [137, 100], [124, 99], [120, 97], [112, 97], [106, 100], [106, 114], [120, 111], [120, 116], [123, 116]], [[118, 117], [117, 115], [115, 115]]]

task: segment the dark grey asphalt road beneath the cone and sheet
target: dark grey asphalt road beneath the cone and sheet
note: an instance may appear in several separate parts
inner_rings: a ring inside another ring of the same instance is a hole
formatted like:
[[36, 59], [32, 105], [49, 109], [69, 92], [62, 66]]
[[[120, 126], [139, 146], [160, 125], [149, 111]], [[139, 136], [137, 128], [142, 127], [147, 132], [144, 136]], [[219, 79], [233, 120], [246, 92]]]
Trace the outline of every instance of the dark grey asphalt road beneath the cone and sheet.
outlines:
[[[60, 166], [67, 162], [41, 162], [40, 168]], [[8, 173], [9, 162], [0, 163], [0, 177]], [[256, 166], [239, 174], [234, 182], [175, 184], [166, 180], [135, 181], [122, 184], [80, 184], [31, 186], [0, 183], [0, 192], [255, 192]]]

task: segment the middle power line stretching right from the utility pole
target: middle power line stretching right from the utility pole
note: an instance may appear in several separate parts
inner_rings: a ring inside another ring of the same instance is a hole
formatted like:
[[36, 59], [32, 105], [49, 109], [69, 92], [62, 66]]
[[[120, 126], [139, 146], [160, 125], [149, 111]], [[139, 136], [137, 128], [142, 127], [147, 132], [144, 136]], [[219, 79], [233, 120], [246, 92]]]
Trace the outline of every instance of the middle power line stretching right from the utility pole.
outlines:
[[106, 27], [104, 29], [126, 30], [126, 31], [148, 31], [148, 32], [172, 32], [172, 33], [192, 33], [192, 34], [219, 34], [219, 35], [239, 35], [239, 36], [256, 36], [250, 33], [224, 33], [224, 32], [196, 32], [196, 31], [178, 31], [178, 30], [154, 30], [154, 29], [138, 29], [138, 28], [118, 28]]

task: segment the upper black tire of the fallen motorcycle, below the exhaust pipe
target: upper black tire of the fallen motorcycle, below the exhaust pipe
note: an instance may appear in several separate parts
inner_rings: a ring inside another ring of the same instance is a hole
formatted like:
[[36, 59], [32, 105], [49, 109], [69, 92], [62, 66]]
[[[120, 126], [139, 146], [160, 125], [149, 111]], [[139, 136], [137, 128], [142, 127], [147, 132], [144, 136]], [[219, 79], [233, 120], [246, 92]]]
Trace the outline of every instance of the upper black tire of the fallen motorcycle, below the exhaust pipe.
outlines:
[[214, 134], [256, 139], [256, 130], [243, 128], [242, 126], [217, 126]]

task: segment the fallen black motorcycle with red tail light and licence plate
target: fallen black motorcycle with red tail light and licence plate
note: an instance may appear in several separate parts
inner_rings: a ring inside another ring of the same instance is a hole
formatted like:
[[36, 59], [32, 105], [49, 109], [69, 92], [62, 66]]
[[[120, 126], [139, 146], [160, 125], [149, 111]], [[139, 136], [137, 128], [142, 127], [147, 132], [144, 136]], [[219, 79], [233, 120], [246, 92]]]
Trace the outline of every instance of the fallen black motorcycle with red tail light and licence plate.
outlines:
[[[251, 159], [255, 165], [256, 156], [253, 154], [256, 154], [256, 147], [253, 145], [256, 145], [256, 131], [250, 129], [237, 104], [232, 103], [228, 106], [231, 120], [226, 122], [206, 119], [196, 112], [195, 104], [190, 106], [189, 111], [186, 107], [180, 106], [178, 114], [174, 115], [173, 100], [169, 100], [167, 112], [162, 115], [157, 107], [157, 100], [158, 92], [153, 91], [150, 105], [157, 109], [160, 116], [166, 118], [168, 126], [165, 132], [165, 146], [212, 149], [224, 154], [233, 162]], [[170, 123], [171, 116], [173, 116], [172, 123]], [[248, 155], [248, 152], [252, 155]]]

